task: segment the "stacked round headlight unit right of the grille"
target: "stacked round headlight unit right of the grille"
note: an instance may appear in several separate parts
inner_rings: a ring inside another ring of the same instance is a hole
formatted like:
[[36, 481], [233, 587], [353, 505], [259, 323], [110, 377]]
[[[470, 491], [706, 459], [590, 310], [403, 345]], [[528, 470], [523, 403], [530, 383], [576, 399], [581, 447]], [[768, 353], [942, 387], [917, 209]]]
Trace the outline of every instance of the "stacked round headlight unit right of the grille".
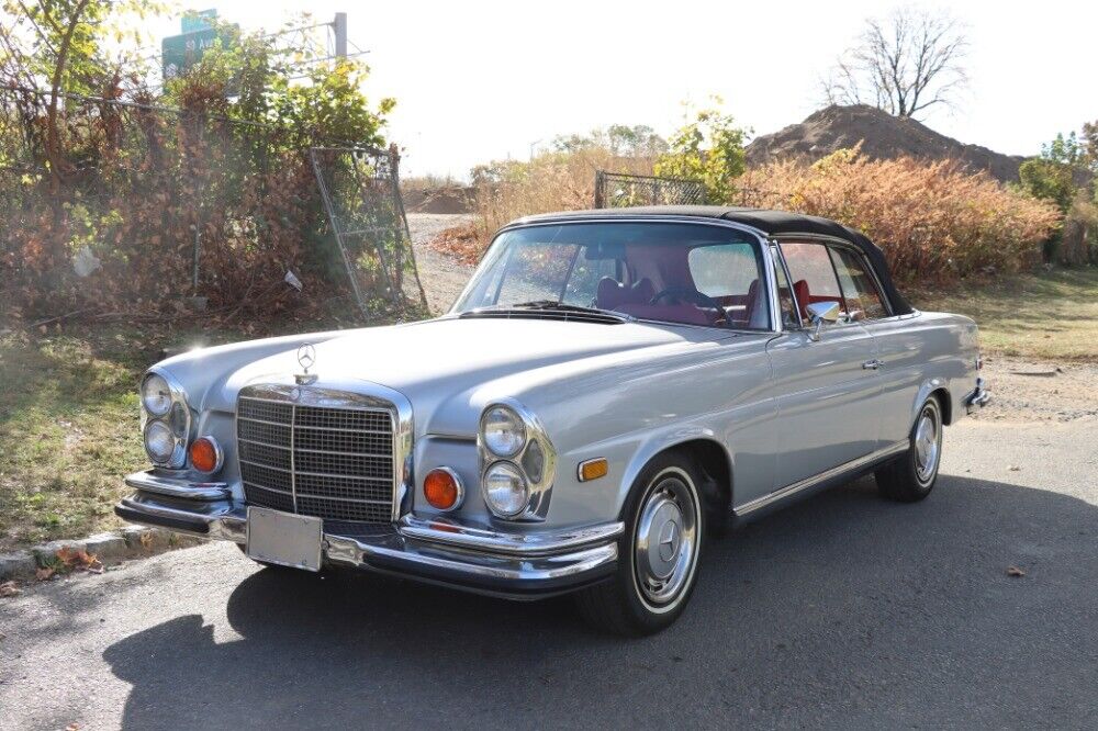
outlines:
[[556, 453], [537, 419], [518, 404], [493, 404], [481, 415], [479, 441], [489, 510], [507, 520], [544, 520]]

